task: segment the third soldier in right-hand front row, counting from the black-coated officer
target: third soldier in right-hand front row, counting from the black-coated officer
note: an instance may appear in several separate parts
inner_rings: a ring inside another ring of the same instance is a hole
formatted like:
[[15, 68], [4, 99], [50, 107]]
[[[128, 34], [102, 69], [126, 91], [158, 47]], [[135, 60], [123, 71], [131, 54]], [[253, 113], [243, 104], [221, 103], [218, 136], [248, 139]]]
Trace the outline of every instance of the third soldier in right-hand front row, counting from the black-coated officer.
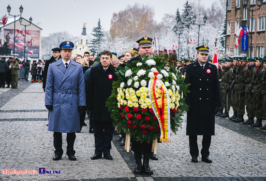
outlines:
[[254, 70], [256, 69], [255, 66], [255, 59], [254, 58], [249, 58], [248, 59], [248, 70], [245, 76], [245, 102], [246, 102], [246, 111], [248, 114], [248, 120], [243, 122], [243, 125], [252, 125], [254, 124], [254, 117], [255, 117], [255, 112], [254, 112], [254, 102], [253, 102], [253, 97], [252, 94], [249, 94], [249, 85], [252, 82]]

